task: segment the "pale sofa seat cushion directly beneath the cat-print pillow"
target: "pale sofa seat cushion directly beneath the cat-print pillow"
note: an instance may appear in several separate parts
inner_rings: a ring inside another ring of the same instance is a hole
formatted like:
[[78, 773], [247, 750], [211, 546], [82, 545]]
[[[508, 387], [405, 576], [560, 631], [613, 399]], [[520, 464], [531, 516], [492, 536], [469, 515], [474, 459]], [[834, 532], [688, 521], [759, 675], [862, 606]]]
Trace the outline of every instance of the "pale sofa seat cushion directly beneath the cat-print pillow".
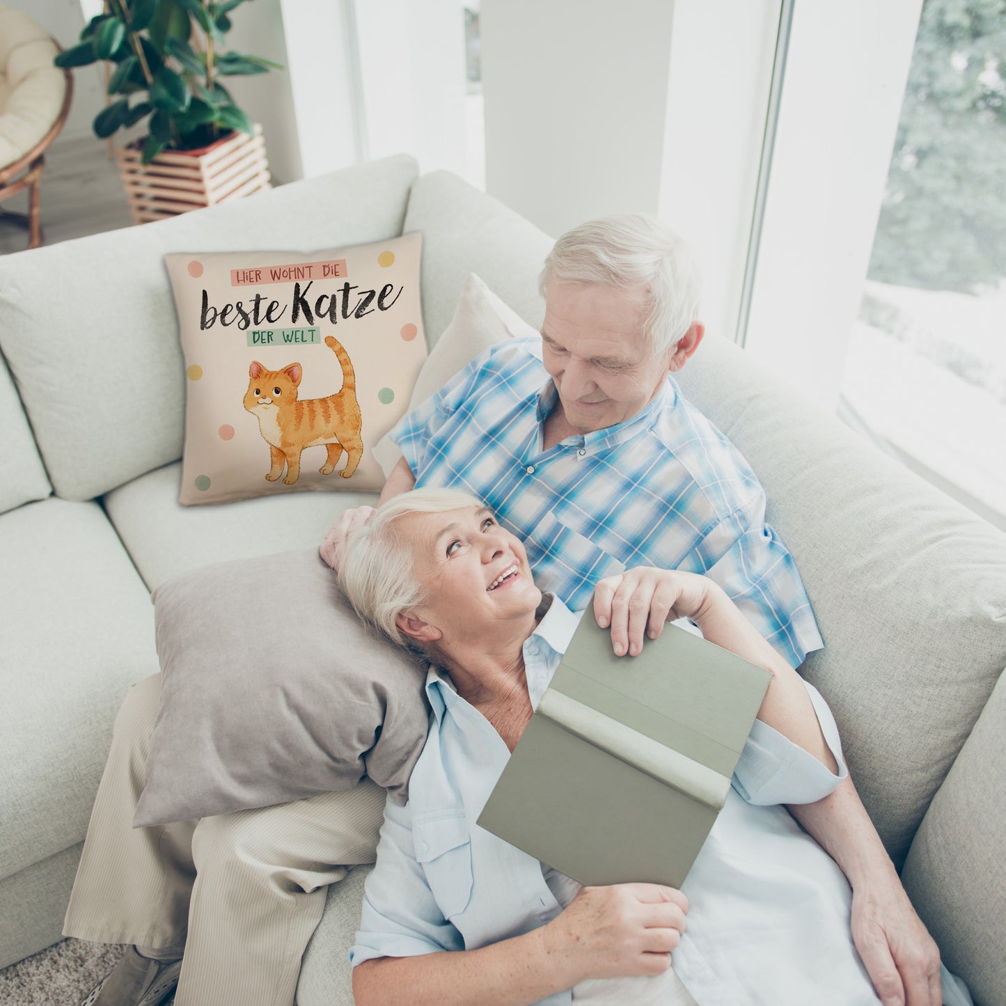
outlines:
[[109, 493], [105, 507], [147, 586], [227, 559], [317, 548], [343, 510], [376, 493], [292, 493], [228, 506], [178, 502], [181, 465], [167, 465]]

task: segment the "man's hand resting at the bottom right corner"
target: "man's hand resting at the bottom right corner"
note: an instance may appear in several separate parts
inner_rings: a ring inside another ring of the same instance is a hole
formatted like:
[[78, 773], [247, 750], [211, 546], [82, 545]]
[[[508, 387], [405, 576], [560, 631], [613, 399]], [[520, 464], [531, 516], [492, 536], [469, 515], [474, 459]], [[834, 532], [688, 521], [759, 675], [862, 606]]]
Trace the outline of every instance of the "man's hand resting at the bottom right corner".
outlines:
[[852, 893], [852, 939], [884, 1006], [942, 1006], [940, 950], [904, 888], [870, 883]]

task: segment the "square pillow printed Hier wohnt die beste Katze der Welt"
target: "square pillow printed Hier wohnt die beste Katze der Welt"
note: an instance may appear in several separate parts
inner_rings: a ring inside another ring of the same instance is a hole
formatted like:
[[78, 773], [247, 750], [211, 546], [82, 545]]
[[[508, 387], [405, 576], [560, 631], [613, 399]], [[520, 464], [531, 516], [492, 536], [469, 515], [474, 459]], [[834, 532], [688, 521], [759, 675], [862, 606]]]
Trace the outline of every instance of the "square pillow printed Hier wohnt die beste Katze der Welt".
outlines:
[[421, 247], [165, 256], [187, 378], [180, 502], [381, 488], [371, 448], [427, 356]]

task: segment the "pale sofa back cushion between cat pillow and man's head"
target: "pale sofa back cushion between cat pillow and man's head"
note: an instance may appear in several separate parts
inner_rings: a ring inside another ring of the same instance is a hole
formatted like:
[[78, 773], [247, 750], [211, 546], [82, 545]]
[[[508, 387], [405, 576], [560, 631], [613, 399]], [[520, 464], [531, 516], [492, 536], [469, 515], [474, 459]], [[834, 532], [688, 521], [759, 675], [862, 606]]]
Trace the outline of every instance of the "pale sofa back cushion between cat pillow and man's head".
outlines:
[[422, 230], [423, 317], [431, 348], [477, 273], [535, 329], [545, 314], [538, 274], [552, 239], [449, 171], [424, 175], [408, 197], [405, 230]]

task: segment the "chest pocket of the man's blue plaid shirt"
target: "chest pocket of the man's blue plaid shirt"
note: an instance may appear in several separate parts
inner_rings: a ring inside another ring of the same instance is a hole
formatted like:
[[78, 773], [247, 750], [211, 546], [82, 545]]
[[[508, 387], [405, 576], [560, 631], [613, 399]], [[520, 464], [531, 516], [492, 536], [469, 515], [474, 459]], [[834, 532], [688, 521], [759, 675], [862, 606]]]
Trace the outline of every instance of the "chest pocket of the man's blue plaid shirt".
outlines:
[[586, 607], [598, 580], [625, 571], [623, 562], [563, 524], [554, 510], [538, 521], [529, 538], [537, 549], [535, 583], [557, 594], [571, 611]]

